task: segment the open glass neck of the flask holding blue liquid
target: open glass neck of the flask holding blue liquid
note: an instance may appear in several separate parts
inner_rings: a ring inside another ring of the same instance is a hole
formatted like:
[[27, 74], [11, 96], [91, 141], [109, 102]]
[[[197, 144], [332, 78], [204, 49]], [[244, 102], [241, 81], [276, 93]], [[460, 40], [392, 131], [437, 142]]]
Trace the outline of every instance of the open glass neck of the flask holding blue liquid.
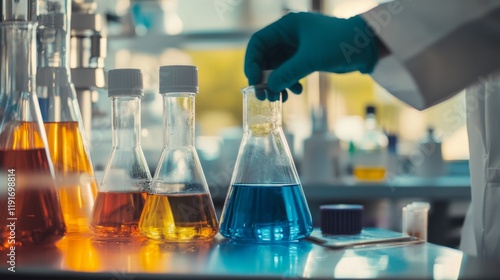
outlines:
[[243, 129], [245, 133], [264, 135], [281, 129], [281, 99], [268, 101], [257, 98], [266, 96], [266, 88], [249, 86], [243, 92]]

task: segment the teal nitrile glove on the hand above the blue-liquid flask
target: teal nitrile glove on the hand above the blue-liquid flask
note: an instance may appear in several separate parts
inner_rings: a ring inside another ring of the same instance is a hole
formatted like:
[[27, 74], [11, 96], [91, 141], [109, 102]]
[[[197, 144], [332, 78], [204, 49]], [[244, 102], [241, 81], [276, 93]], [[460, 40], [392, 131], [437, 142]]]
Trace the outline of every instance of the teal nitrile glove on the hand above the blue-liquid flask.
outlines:
[[[289, 13], [253, 34], [245, 54], [245, 75], [255, 85], [263, 70], [274, 69], [267, 83], [270, 91], [277, 95], [288, 88], [299, 94], [299, 80], [314, 71], [370, 73], [377, 61], [377, 39], [361, 16]], [[268, 96], [271, 101], [278, 98]]]

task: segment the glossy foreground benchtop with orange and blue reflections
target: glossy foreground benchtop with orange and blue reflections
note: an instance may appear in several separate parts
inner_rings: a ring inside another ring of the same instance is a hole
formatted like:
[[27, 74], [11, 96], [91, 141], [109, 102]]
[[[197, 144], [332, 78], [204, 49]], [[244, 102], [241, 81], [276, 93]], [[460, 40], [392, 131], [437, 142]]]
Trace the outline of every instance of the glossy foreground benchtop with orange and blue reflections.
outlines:
[[498, 279], [500, 275], [499, 263], [427, 242], [331, 249], [309, 240], [251, 244], [217, 235], [210, 242], [162, 243], [72, 234], [55, 247], [16, 248], [14, 273], [7, 270], [4, 252], [1, 279]]

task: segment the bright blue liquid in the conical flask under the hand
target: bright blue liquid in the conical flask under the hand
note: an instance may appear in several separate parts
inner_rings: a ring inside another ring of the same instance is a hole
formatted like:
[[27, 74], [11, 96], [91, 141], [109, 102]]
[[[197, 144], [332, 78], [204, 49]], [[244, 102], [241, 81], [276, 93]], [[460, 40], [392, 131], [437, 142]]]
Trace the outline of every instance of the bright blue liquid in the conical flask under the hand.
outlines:
[[294, 241], [313, 230], [300, 185], [234, 184], [222, 214], [220, 233], [248, 242]]

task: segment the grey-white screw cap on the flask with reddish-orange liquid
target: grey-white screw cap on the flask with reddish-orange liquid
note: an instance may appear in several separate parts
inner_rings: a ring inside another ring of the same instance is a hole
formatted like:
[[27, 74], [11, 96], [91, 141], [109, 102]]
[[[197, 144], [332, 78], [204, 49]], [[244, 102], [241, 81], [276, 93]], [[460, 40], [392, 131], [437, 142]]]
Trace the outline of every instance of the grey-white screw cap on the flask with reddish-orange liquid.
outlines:
[[139, 69], [113, 69], [108, 72], [108, 96], [143, 96]]

